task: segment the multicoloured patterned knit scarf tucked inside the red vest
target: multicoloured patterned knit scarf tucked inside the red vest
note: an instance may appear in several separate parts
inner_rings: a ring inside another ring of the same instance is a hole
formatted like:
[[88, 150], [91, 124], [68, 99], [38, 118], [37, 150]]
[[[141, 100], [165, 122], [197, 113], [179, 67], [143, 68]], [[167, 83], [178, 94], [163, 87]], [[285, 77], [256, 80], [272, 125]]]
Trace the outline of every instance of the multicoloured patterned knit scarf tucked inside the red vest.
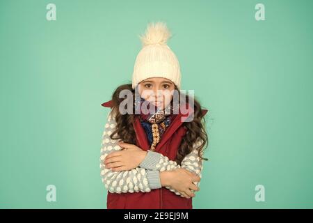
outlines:
[[[143, 105], [143, 103], [147, 103]], [[171, 104], [171, 103], [170, 103]], [[161, 137], [165, 132], [166, 128], [172, 122], [172, 119], [175, 118], [175, 114], [173, 114], [173, 106], [166, 106], [165, 109], [159, 109], [157, 106], [152, 103], [148, 103], [143, 98], [138, 98], [135, 100], [135, 107], [138, 109], [138, 106], [141, 108], [141, 125], [145, 129], [147, 134], [147, 139], [150, 144], [150, 149], [154, 151], [159, 141], [161, 141]], [[142, 106], [143, 105], [143, 106]], [[155, 111], [153, 114], [150, 113], [150, 108], [152, 111]], [[145, 110], [143, 112], [143, 110]]]

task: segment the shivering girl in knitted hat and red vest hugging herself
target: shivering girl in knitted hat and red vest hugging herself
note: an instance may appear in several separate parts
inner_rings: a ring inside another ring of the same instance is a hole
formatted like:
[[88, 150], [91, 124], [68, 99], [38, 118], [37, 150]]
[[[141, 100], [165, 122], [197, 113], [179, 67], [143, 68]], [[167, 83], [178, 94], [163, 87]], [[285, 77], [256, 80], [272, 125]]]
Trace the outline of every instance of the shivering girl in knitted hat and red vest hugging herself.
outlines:
[[100, 156], [108, 209], [191, 209], [199, 190], [207, 109], [180, 93], [179, 63], [168, 38], [166, 24], [149, 24], [132, 84], [119, 86], [102, 104], [111, 107]]

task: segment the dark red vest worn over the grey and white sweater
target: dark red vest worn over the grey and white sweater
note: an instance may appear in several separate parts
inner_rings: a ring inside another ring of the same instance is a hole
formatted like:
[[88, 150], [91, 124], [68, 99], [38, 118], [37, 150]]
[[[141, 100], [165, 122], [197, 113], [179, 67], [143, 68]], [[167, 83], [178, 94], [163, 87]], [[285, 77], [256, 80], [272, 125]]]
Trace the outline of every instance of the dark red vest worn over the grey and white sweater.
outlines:
[[[112, 107], [112, 101], [104, 102], [102, 106]], [[189, 110], [187, 114], [182, 114], [179, 109], [179, 114], [172, 120], [155, 148], [156, 152], [167, 156], [169, 160], [175, 160], [182, 137], [186, 134], [182, 118], [187, 118], [193, 112], [193, 108], [186, 106], [186, 109]], [[202, 109], [202, 114], [206, 113], [207, 109]], [[136, 145], [147, 151], [150, 146], [138, 116], [133, 125], [136, 132]], [[151, 192], [118, 194], [108, 191], [106, 206], [108, 209], [192, 209], [193, 203], [192, 198], [180, 197], [166, 187], [161, 187], [151, 190]]]

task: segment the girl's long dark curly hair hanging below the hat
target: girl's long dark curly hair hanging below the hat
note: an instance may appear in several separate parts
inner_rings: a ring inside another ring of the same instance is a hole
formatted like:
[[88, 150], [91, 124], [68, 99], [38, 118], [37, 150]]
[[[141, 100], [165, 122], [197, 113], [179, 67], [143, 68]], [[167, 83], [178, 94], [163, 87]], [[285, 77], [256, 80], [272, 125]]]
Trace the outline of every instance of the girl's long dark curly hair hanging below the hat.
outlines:
[[[179, 92], [177, 87], [175, 86], [175, 89]], [[132, 93], [132, 97], [127, 98], [120, 98], [120, 92], [123, 90], [128, 90]], [[177, 151], [177, 155], [175, 158], [175, 162], [177, 164], [181, 164], [182, 160], [186, 155], [191, 153], [194, 149], [194, 144], [196, 144], [198, 147], [196, 148], [198, 150], [198, 155], [201, 160], [208, 160], [207, 158], [203, 157], [204, 149], [207, 148], [207, 145], [209, 143], [208, 141], [208, 135], [205, 130], [205, 119], [203, 117], [203, 114], [201, 112], [201, 106], [198, 100], [194, 99], [194, 118], [193, 121], [190, 122], [184, 122], [182, 125], [184, 125], [187, 129], [186, 136], [182, 137], [181, 144], [179, 145], [179, 149]], [[120, 114], [119, 106], [120, 103], [124, 100], [133, 100], [129, 105], [134, 105], [135, 100], [135, 90], [132, 89], [131, 84], [123, 84], [121, 86], [118, 86], [117, 89], [113, 92], [112, 95], [112, 102], [113, 107], [111, 109], [111, 114], [115, 117], [116, 121], [116, 128], [111, 133], [110, 138], [111, 139], [121, 139], [122, 141], [125, 141], [128, 144], [136, 144], [136, 132], [134, 130], [134, 127], [132, 123], [134, 123], [134, 118], [136, 115], [134, 112], [134, 106], [132, 109], [132, 114]], [[179, 102], [180, 102], [180, 92], [179, 92]], [[188, 97], [186, 97], [186, 103], [188, 103]], [[128, 103], [125, 103], [125, 109], [127, 108]], [[199, 140], [200, 139], [200, 140]], [[199, 143], [200, 142], [200, 143]]]

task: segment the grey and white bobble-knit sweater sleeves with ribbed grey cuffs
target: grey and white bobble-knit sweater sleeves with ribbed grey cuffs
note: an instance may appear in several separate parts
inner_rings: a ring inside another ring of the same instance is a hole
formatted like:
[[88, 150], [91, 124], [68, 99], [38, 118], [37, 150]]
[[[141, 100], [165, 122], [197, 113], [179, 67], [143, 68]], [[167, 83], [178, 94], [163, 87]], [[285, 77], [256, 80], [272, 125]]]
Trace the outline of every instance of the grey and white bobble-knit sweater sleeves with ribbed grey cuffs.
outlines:
[[[147, 151], [147, 155], [138, 167], [128, 171], [111, 171], [106, 169], [104, 165], [104, 159], [106, 155], [119, 151], [122, 148], [118, 145], [118, 141], [111, 139], [110, 134], [115, 130], [116, 121], [111, 115], [108, 114], [108, 118], [105, 124], [104, 132], [102, 135], [102, 148], [100, 155], [100, 169], [102, 176], [102, 183], [104, 183], [106, 190], [111, 193], [126, 193], [126, 192], [150, 192], [153, 189], [161, 188], [160, 172], [170, 171], [177, 168], [184, 168], [191, 171], [200, 178], [202, 177], [202, 160], [198, 156], [196, 148], [200, 146], [200, 138], [195, 142], [193, 151], [184, 157], [182, 164], [169, 160], [168, 157], [154, 151]], [[200, 182], [194, 182], [195, 185], [199, 185]], [[175, 194], [182, 194], [171, 187], [166, 187], [168, 190], [175, 192]], [[193, 191], [193, 190], [191, 190]]]

